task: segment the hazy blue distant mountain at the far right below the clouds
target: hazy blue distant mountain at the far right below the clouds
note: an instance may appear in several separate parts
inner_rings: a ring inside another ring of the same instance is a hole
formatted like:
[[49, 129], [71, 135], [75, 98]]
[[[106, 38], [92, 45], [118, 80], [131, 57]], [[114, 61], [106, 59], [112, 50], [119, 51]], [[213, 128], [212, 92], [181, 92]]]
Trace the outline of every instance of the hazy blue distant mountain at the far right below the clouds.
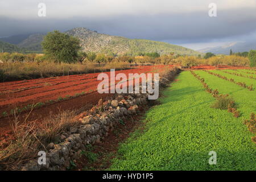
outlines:
[[232, 49], [233, 52], [245, 52], [250, 51], [251, 49], [256, 49], [256, 40], [250, 40], [246, 42], [233, 42], [226, 44], [224, 46], [217, 46], [217, 47], [209, 47], [197, 50], [199, 52], [212, 52], [215, 54], [223, 54], [223, 55], [229, 55], [230, 49]]

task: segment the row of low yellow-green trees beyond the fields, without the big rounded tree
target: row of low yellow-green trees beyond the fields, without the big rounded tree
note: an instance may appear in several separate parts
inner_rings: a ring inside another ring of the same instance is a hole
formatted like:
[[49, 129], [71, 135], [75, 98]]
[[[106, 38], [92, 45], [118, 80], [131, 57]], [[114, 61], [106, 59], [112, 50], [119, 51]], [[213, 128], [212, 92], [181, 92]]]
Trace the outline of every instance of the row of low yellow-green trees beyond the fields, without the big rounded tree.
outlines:
[[[174, 55], [173, 53], [169, 55], [162, 56], [110, 56], [103, 53], [94, 53], [94, 52], [78, 52], [76, 63], [81, 64], [104, 64], [104, 63], [129, 63], [129, 64], [179, 64], [183, 67], [194, 67], [200, 64], [207, 65], [251, 65], [251, 67], [256, 67], [256, 51], [250, 51], [249, 57], [243, 57], [238, 55], [217, 55], [210, 56], [208, 59], [204, 59], [198, 56], [179, 56]], [[36, 54], [27, 54], [23, 55], [21, 53], [0, 53], [0, 60], [3, 62], [42, 62], [42, 61], [51, 61], [48, 55], [36, 55]], [[55, 61], [55, 60], [52, 60]], [[61, 61], [55, 61], [60, 63]], [[70, 62], [67, 62], [70, 63]]]

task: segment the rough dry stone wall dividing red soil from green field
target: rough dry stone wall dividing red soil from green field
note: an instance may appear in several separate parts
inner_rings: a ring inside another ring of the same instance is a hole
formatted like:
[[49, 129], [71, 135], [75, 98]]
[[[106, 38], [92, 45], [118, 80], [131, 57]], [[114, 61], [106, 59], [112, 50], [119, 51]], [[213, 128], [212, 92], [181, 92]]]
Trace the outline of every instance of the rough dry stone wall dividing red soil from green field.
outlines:
[[[160, 77], [159, 85], [165, 87], [180, 69], [172, 69], [166, 76]], [[154, 101], [153, 101], [154, 102]], [[115, 94], [109, 100], [98, 101], [97, 106], [80, 115], [78, 127], [71, 127], [59, 137], [59, 143], [49, 143], [46, 151], [46, 164], [31, 160], [21, 169], [23, 171], [65, 170], [70, 162], [81, 157], [85, 146], [101, 142], [123, 119], [132, 118], [139, 113], [139, 107], [152, 105], [148, 94]]]

